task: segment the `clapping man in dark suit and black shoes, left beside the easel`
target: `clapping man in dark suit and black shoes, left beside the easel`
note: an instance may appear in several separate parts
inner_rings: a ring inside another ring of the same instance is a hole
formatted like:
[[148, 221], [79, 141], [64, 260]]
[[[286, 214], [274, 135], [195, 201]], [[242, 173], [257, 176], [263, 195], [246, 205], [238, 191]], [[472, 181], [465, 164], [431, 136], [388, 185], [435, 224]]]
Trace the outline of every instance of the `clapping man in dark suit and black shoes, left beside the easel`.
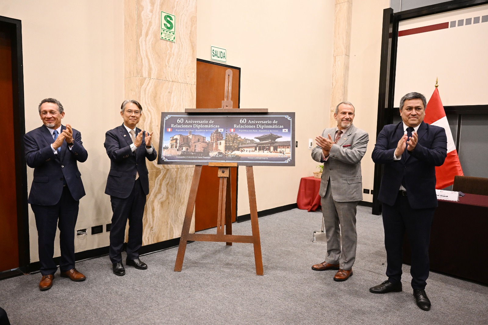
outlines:
[[125, 274], [122, 249], [127, 219], [129, 239], [125, 264], [142, 270], [147, 268], [138, 253], [142, 246], [142, 215], [146, 195], [149, 194], [145, 159], [152, 162], [157, 153], [151, 143], [152, 132], [136, 127], [141, 115], [142, 106], [139, 102], [124, 101], [121, 106], [123, 124], [105, 133], [104, 145], [110, 158], [105, 194], [110, 195], [113, 212], [109, 256], [114, 274], [121, 276]]

